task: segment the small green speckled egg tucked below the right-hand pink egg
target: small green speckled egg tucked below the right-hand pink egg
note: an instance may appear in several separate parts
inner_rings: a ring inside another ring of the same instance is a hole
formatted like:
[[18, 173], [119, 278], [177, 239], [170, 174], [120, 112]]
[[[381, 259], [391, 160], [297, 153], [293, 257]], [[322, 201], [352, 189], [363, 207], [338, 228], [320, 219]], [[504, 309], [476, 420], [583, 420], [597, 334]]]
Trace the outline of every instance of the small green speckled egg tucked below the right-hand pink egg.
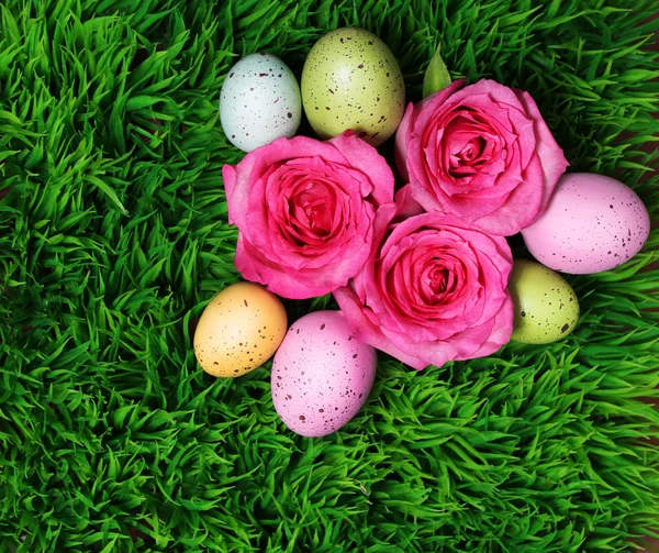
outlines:
[[549, 344], [567, 336], [577, 325], [577, 295], [558, 273], [539, 263], [517, 259], [509, 289], [515, 306], [513, 340]]

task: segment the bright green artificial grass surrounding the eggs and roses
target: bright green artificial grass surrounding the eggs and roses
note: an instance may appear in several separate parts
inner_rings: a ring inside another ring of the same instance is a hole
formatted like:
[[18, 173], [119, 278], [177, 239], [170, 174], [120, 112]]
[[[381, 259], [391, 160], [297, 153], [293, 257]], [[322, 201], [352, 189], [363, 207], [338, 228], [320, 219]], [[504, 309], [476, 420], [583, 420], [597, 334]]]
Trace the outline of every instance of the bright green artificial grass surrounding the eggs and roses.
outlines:
[[238, 279], [223, 76], [256, 51], [299, 76], [336, 26], [381, 36], [412, 100], [438, 44], [454, 78], [529, 90], [570, 170], [616, 176], [657, 220], [656, 2], [541, 3], [3, 0], [1, 552], [599, 552], [659, 532], [657, 232], [568, 277], [562, 342], [420, 374], [381, 356], [325, 439], [279, 422], [269, 365], [215, 380], [191, 347]]

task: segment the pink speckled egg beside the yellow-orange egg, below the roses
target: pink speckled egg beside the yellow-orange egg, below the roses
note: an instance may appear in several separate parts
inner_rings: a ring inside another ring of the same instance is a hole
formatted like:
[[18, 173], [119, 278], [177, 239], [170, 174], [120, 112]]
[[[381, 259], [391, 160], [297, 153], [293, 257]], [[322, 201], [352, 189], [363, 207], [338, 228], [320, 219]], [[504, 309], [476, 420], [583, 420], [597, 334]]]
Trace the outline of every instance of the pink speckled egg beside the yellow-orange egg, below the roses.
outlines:
[[298, 434], [331, 434], [366, 401], [376, 365], [376, 351], [353, 338], [340, 311], [309, 313], [291, 325], [275, 355], [275, 409]]

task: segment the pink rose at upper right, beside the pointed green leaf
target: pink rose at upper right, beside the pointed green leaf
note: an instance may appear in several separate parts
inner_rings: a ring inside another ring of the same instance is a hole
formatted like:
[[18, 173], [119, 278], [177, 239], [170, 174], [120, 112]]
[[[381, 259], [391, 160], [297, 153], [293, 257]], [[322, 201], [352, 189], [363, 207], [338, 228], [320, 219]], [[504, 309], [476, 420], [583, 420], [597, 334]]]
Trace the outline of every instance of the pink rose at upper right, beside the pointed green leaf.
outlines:
[[569, 164], [528, 92], [463, 82], [407, 106], [396, 165], [427, 211], [516, 234], [543, 214]]

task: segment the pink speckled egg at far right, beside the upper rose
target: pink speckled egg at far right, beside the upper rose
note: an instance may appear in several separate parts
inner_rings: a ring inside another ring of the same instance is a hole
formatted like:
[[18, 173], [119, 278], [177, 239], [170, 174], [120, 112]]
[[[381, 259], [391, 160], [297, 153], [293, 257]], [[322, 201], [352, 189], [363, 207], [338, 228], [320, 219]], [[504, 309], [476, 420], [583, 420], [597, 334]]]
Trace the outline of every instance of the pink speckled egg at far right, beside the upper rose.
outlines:
[[649, 233], [650, 217], [634, 190], [614, 178], [573, 173], [562, 176], [547, 211], [522, 236], [543, 265], [587, 275], [627, 262]]

